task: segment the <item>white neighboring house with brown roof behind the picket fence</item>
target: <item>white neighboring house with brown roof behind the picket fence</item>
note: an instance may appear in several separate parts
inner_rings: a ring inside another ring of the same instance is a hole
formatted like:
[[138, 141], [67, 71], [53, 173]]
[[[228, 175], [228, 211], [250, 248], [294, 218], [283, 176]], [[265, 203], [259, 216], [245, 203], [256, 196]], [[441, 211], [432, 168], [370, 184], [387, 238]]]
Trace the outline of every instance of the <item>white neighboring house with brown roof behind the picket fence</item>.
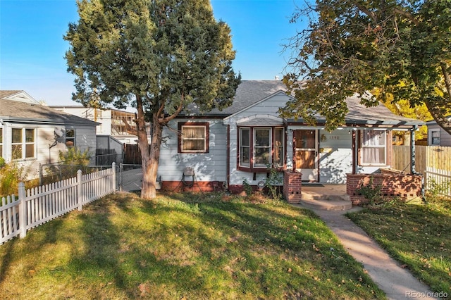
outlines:
[[22, 165], [29, 178], [68, 147], [95, 154], [97, 125], [42, 106], [24, 91], [0, 91], [0, 155]]

